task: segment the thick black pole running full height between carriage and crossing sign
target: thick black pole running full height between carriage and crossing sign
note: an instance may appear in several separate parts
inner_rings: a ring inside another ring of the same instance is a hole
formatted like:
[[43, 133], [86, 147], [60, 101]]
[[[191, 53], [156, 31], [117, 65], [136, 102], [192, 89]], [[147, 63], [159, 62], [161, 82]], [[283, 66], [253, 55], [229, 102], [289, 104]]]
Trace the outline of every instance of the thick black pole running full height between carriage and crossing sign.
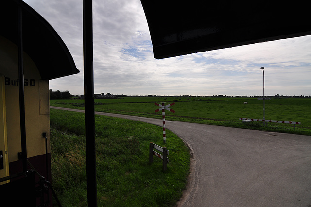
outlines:
[[83, 0], [87, 203], [89, 207], [97, 207], [92, 18], [92, 0]]

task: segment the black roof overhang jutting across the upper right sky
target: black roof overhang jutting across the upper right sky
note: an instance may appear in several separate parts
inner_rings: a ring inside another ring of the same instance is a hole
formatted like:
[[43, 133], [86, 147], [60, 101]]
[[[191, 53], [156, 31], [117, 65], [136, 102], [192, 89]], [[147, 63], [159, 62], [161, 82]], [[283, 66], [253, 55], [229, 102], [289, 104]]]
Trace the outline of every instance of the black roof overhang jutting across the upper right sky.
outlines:
[[308, 1], [141, 0], [156, 59], [311, 35]]

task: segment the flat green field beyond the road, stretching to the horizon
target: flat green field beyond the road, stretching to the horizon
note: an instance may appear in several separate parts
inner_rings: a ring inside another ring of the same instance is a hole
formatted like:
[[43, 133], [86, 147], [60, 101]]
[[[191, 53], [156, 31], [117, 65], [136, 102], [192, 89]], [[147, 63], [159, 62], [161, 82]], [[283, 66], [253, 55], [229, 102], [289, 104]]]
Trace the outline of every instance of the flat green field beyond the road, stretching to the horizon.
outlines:
[[[171, 104], [175, 113], [166, 111], [167, 120], [222, 125], [311, 135], [311, 98], [271, 98], [265, 100], [265, 119], [297, 121], [300, 125], [252, 122], [242, 124], [239, 118], [263, 118], [263, 100], [247, 97], [124, 97], [121, 99], [95, 99], [95, 110], [108, 113], [161, 119], [161, 112], [154, 103]], [[243, 104], [248, 102], [248, 104]], [[84, 108], [84, 100], [50, 100], [50, 105]]]

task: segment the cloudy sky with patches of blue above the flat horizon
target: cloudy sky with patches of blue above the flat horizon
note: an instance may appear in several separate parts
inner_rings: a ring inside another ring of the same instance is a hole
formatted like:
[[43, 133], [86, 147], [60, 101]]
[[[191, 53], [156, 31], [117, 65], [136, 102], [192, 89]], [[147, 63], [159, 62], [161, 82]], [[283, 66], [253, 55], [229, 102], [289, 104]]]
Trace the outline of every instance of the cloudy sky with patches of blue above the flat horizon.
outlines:
[[[82, 0], [24, 0], [67, 45], [80, 73], [50, 81], [84, 94]], [[94, 92], [311, 96], [311, 35], [157, 60], [140, 0], [93, 0]]]

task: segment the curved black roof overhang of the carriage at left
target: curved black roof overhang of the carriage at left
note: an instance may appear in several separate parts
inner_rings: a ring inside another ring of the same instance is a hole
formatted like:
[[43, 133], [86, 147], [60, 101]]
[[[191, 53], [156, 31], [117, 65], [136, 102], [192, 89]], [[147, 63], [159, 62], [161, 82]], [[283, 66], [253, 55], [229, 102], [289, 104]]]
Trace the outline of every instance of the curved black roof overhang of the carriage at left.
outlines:
[[18, 45], [18, 6], [23, 11], [23, 48], [35, 62], [41, 78], [51, 80], [78, 73], [60, 36], [43, 17], [21, 0], [0, 1], [0, 35]]

